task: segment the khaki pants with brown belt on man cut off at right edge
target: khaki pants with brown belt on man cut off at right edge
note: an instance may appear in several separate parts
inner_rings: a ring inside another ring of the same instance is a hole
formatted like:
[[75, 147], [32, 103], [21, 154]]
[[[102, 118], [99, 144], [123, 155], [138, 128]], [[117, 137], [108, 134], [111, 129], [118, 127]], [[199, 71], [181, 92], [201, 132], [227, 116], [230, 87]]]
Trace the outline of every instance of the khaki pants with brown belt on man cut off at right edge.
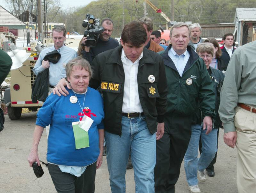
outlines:
[[236, 107], [236, 182], [239, 193], [256, 191], [256, 113]]

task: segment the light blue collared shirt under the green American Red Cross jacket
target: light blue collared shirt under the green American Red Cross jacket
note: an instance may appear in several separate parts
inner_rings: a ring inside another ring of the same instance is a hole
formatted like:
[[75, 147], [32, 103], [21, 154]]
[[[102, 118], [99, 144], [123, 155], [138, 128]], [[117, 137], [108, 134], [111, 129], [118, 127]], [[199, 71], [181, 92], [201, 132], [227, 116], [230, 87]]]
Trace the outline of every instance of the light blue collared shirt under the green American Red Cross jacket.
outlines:
[[176, 69], [178, 70], [180, 77], [182, 77], [183, 71], [185, 69], [185, 66], [188, 62], [190, 54], [188, 53], [188, 49], [181, 54], [178, 55], [173, 48], [169, 49], [168, 56], [172, 59], [172, 62], [174, 63]]

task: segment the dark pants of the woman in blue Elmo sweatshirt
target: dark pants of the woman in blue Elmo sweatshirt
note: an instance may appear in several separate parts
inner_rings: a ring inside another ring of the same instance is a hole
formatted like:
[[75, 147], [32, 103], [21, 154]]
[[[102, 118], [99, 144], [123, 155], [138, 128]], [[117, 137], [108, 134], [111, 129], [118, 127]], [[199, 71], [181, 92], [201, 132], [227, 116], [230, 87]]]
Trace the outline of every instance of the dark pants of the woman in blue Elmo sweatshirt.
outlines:
[[58, 193], [94, 193], [96, 162], [87, 166], [80, 177], [61, 172], [59, 166], [48, 163], [52, 182]]

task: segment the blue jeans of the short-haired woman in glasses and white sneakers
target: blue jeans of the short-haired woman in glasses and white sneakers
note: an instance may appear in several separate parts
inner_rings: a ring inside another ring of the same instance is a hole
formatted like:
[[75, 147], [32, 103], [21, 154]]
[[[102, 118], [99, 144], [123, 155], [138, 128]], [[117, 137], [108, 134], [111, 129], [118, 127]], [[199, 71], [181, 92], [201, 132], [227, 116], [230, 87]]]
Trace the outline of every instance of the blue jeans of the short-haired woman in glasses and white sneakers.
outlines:
[[[192, 133], [189, 141], [188, 149], [184, 157], [184, 166], [189, 186], [198, 184], [197, 170], [204, 171], [204, 169], [211, 163], [217, 152], [217, 129], [206, 135], [206, 129], [202, 129], [202, 125], [192, 125]], [[201, 136], [202, 153], [199, 159], [198, 143]]]

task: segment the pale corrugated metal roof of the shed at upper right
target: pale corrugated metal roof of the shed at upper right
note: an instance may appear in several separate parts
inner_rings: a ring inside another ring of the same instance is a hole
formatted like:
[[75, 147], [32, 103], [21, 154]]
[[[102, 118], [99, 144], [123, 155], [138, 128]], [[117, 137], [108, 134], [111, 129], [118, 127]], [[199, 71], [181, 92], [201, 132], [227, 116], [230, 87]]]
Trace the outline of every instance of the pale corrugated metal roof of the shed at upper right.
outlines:
[[256, 21], [256, 8], [236, 8], [239, 21]]

